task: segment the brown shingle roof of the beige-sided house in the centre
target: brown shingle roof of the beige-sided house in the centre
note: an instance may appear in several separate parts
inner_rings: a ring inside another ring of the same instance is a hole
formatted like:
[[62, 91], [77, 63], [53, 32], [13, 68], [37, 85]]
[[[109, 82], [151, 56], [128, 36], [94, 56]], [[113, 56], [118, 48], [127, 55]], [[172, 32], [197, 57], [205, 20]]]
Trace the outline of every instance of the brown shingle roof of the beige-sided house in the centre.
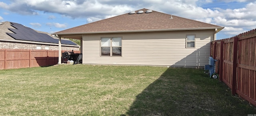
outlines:
[[[145, 13], [148, 9], [141, 9], [141, 14], [122, 14], [112, 18], [99, 20], [84, 24], [67, 30], [62, 30], [54, 34], [72, 34], [83, 32], [118, 32], [136, 30], [166, 30], [166, 29], [188, 29], [188, 28], [219, 28], [224, 27], [208, 24], [196, 20], [182, 18], [162, 12], [153, 11]], [[135, 11], [138, 12], [139, 10]], [[171, 18], [172, 16], [172, 18]]]

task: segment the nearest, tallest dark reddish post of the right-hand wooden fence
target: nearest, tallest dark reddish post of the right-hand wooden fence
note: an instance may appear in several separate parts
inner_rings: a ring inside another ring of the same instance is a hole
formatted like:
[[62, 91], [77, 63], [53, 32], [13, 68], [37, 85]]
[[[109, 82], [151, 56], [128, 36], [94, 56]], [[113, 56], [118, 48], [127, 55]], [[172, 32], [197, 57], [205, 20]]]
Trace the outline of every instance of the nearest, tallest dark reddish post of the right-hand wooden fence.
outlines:
[[238, 49], [238, 37], [234, 37], [233, 42], [233, 70], [232, 70], [232, 95], [236, 95], [236, 68], [237, 68], [237, 49]]

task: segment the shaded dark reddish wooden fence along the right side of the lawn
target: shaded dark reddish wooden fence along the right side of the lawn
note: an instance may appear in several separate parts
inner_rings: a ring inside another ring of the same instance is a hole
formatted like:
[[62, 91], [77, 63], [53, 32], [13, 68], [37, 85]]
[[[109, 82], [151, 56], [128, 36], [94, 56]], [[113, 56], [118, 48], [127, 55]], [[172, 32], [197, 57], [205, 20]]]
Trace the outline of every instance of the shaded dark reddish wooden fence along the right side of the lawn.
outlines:
[[256, 29], [211, 43], [220, 81], [256, 106]]

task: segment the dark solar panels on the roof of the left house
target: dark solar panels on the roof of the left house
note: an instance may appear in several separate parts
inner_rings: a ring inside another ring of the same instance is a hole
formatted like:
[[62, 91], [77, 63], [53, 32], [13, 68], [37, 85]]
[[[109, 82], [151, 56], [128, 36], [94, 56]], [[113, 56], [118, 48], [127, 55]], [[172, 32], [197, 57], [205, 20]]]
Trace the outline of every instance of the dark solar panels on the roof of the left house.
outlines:
[[[14, 33], [6, 33], [16, 40], [26, 40], [34, 42], [47, 42], [47, 43], [59, 43], [58, 39], [54, 39], [48, 34], [36, 32], [35, 30], [25, 27], [21, 24], [11, 22], [12, 26], [16, 29], [9, 28]], [[76, 45], [70, 40], [61, 40], [61, 44]]]

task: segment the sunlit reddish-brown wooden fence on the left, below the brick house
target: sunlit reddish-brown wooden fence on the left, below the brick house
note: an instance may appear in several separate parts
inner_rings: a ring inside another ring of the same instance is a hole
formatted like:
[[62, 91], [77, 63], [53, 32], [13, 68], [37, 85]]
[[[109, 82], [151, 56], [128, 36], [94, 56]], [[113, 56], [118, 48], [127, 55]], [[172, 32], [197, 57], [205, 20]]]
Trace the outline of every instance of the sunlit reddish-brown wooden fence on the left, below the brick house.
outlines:
[[52, 66], [58, 64], [58, 54], [58, 50], [0, 49], [0, 70]]

